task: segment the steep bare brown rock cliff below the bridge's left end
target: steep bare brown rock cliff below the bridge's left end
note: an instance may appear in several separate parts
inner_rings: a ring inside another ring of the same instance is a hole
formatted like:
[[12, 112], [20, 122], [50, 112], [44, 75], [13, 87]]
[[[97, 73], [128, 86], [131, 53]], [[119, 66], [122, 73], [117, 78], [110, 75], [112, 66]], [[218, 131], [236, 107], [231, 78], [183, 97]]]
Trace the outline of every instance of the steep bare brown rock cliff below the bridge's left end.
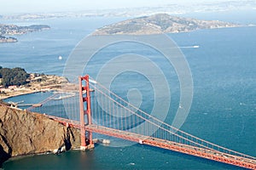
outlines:
[[0, 167], [11, 156], [80, 146], [79, 130], [48, 117], [0, 104]]

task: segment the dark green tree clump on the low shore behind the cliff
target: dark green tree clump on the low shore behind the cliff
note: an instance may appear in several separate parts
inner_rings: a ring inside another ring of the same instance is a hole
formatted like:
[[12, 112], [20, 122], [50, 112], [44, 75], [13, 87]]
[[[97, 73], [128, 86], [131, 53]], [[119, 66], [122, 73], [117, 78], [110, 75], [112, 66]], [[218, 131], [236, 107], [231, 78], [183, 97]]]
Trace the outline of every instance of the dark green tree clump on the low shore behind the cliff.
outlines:
[[24, 85], [27, 83], [26, 80], [28, 77], [29, 74], [27, 74], [26, 71], [20, 67], [9, 69], [0, 66], [0, 85], [3, 85], [5, 88], [13, 85]]

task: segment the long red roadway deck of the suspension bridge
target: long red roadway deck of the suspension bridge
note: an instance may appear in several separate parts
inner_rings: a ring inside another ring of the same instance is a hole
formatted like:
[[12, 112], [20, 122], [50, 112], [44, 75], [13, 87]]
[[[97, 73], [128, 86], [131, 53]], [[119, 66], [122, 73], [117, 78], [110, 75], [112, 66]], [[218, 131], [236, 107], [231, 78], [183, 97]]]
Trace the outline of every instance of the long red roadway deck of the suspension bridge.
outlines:
[[[55, 117], [55, 116], [49, 116], [49, 118], [52, 118], [55, 121], [61, 122], [63, 124], [68, 123], [69, 126], [71, 127], [80, 128], [79, 122], [76, 122], [76, 121], [71, 121], [68, 119]], [[173, 150], [173, 151], [181, 152], [181, 153], [192, 155], [192, 156], [199, 156], [199, 157], [206, 158], [213, 161], [224, 162], [224, 163], [235, 165], [238, 167], [256, 169], [256, 160], [249, 159], [246, 157], [241, 157], [241, 156], [230, 155], [228, 153], [223, 153], [218, 150], [200, 148], [200, 147], [192, 146], [189, 144], [180, 144], [180, 143], [172, 142], [165, 139], [157, 139], [150, 136], [144, 136], [141, 134], [131, 133], [131, 132], [113, 129], [109, 127], [102, 127], [95, 124], [86, 125], [85, 129], [93, 133], [101, 133], [101, 134], [113, 136], [119, 139], [127, 139], [140, 144], [148, 144], [155, 147], [159, 147], [167, 150]]]

